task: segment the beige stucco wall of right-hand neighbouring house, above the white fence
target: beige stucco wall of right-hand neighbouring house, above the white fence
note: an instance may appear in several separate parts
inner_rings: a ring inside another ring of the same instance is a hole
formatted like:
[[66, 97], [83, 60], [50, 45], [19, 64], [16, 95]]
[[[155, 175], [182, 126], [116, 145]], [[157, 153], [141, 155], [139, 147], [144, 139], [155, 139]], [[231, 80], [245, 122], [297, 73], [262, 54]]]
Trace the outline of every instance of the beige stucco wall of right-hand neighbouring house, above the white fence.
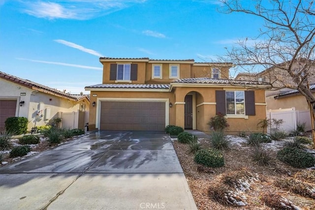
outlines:
[[[315, 96], [315, 93], [313, 93], [313, 95]], [[307, 100], [301, 94], [288, 95], [279, 99], [275, 99], [274, 97], [275, 95], [266, 97], [267, 110], [287, 109], [292, 107], [295, 107], [295, 110], [309, 110]]]

